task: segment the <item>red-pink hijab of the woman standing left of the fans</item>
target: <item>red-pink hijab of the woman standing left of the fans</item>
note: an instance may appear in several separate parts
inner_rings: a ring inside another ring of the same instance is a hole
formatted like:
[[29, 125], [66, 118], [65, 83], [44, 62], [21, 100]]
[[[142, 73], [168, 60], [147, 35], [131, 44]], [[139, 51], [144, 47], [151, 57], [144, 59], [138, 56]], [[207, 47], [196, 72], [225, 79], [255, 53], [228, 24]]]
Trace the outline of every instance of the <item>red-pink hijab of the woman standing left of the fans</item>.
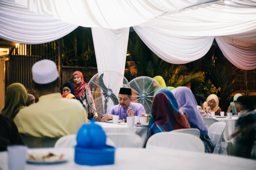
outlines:
[[73, 77], [75, 75], [78, 75], [81, 78], [81, 82], [79, 84], [76, 84], [75, 82], [73, 83], [74, 85], [74, 90], [75, 90], [75, 96], [81, 98], [84, 92], [86, 91], [86, 88], [88, 86], [88, 83], [84, 81], [84, 76], [80, 71], [75, 71], [73, 73]]

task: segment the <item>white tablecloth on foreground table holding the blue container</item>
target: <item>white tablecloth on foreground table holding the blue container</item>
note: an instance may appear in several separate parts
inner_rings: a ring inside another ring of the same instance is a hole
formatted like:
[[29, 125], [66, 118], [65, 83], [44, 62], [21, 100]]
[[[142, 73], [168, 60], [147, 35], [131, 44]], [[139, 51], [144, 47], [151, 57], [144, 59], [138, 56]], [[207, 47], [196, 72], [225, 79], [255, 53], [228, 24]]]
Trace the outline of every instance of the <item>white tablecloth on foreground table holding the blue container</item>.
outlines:
[[[25, 170], [255, 170], [256, 161], [237, 157], [207, 154], [175, 149], [119, 148], [115, 152], [115, 164], [106, 166], [82, 166], [74, 162], [73, 148], [28, 149], [28, 153], [65, 154], [67, 163], [36, 165], [26, 164]], [[8, 170], [7, 152], [0, 152], [0, 167]]]

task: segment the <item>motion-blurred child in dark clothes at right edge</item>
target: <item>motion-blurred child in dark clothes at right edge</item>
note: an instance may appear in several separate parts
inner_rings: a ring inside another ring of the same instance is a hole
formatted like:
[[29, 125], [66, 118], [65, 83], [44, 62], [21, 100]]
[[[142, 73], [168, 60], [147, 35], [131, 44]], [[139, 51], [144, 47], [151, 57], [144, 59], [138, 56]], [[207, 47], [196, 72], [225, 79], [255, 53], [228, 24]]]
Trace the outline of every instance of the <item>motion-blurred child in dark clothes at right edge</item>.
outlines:
[[242, 114], [236, 121], [238, 129], [231, 134], [231, 138], [235, 138], [236, 145], [234, 153], [238, 157], [251, 158], [251, 148], [255, 139], [255, 124], [253, 111], [253, 99], [250, 96], [240, 96], [237, 98], [236, 106], [242, 111]]

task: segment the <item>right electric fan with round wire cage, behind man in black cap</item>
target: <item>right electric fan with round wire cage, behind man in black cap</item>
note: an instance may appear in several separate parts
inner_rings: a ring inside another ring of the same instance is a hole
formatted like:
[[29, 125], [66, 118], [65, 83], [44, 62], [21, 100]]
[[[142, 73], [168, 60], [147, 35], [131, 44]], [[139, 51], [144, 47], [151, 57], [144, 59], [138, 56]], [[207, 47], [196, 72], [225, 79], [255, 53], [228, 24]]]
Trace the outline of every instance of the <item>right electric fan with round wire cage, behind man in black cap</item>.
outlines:
[[151, 105], [154, 93], [161, 88], [161, 85], [150, 77], [137, 77], [130, 82], [132, 99], [131, 102], [140, 103], [144, 106], [146, 114], [151, 114]]

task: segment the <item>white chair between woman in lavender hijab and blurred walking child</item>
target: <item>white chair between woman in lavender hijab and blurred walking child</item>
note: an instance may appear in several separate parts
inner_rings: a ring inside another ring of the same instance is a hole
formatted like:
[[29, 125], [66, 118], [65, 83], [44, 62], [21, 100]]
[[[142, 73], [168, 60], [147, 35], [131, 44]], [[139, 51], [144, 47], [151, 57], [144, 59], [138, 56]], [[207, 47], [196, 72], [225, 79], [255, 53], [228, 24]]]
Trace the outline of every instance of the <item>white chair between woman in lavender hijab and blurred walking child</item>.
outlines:
[[228, 143], [221, 142], [225, 127], [226, 123], [216, 122], [213, 123], [208, 129], [208, 136], [210, 137], [214, 147], [213, 153], [227, 155]]

